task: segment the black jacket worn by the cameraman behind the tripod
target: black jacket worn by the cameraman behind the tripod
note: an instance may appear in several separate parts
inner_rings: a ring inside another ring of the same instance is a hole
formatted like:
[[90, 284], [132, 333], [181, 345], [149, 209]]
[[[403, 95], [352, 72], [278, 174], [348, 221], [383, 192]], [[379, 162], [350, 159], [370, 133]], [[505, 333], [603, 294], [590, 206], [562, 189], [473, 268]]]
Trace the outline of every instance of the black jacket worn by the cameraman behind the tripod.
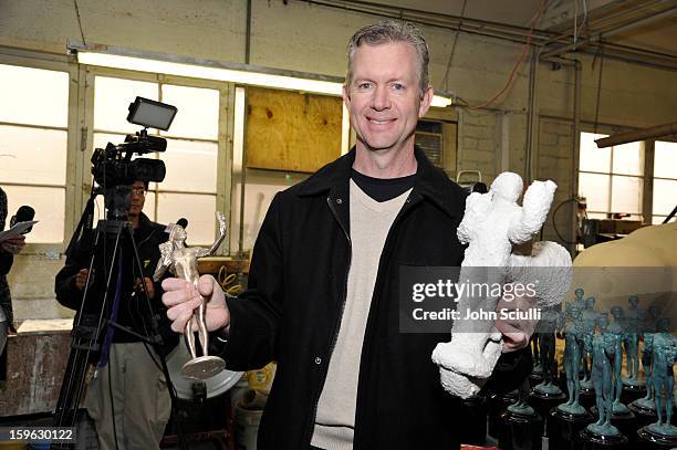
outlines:
[[[94, 239], [96, 232], [85, 232], [73, 254], [66, 258], [65, 266], [56, 274], [54, 291], [56, 301], [71, 310], [80, 310], [83, 292], [75, 286], [75, 275], [81, 269], [87, 269], [91, 257], [94, 252]], [[159, 260], [158, 245], [165, 242], [168, 234], [165, 232], [165, 226], [155, 223], [148, 219], [143, 212], [139, 216], [138, 228], [134, 230], [134, 240], [136, 242], [140, 263], [143, 265], [143, 276], [138, 274], [138, 270], [133, 264], [133, 250], [128, 240], [123, 244], [124, 269], [122, 275], [122, 299], [118, 307], [117, 323], [135, 331], [136, 333], [148, 336], [150, 335], [150, 312], [143, 295], [134, 293], [136, 279], [144, 276], [153, 278], [157, 261]], [[101, 239], [101, 238], [100, 238]], [[113, 248], [113, 242], [107, 242], [108, 250]], [[102, 251], [100, 248], [95, 260], [95, 276], [94, 284], [91, 287], [88, 299], [85, 302], [84, 314], [88, 317], [97, 318], [101, 312], [103, 282], [105, 281], [105, 268], [100, 264], [103, 261]], [[117, 274], [114, 272], [113, 280], [115, 282]], [[178, 343], [178, 335], [171, 332], [170, 323], [166, 315], [166, 308], [162, 303], [162, 286], [160, 283], [155, 283], [155, 296], [150, 300], [153, 314], [159, 321], [159, 332], [164, 339], [163, 346], [156, 346], [156, 350], [163, 354], [168, 354]], [[108, 305], [113, 304], [113, 297], [110, 295]], [[106, 313], [110, 315], [110, 312]], [[88, 321], [87, 321], [88, 322]], [[139, 342], [140, 339], [116, 329], [113, 336], [114, 343], [131, 343]]]

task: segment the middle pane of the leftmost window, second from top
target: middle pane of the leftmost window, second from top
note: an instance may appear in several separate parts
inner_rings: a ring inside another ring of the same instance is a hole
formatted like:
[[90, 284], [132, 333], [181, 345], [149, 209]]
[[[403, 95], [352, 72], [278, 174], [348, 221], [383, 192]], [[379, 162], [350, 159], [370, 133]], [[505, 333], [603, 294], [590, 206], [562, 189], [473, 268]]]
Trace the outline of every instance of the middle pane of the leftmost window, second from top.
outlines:
[[0, 181], [65, 185], [67, 132], [0, 126]]

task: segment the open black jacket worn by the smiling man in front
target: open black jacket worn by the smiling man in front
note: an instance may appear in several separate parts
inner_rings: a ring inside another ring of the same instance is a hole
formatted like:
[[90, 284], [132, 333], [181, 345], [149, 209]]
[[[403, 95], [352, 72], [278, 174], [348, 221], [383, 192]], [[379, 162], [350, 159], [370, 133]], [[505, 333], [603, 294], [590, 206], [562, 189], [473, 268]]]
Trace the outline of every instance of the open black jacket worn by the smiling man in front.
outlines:
[[[231, 369], [278, 363], [259, 449], [306, 449], [345, 302], [351, 265], [348, 180], [354, 150], [278, 193], [251, 260], [248, 290], [228, 299], [231, 323], [222, 355]], [[355, 449], [459, 448], [460, 400], [441, 388], [430, 360], [448, 334], [399, 332], [398, 276], [404, 264], [458, 266], [456, 229], [465, 193], [423, 151], [414, 189], [387, 236], [362, 349]], [[499, 366], [514, 388], [529, 354]], [[494, 371], [496, 374], [496, 371]]]

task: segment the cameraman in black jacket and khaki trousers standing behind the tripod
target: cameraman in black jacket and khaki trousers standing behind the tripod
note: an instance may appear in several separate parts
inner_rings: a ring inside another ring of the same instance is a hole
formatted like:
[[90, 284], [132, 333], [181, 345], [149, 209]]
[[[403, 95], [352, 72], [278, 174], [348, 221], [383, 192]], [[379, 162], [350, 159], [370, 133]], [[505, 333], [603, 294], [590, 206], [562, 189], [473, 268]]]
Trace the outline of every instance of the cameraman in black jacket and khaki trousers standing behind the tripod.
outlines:
[[[87, 411], [96, 423], [100, 446], [104, 450], [159, 448], [171, 410], [158, 353], [167, 355], [178, 343], [178, 337], [173, 336], [165, 316], [160, 302], [162, 287], [152, 280], [159, 259], [158, 244], [165, 242], [168, 236], [164, 226], [152, 222], [142, 212], [147, 189], [148, 184], [144, 181], [137, 180], [132, 185], [127, 210], [144, 273], [137, 273], [136, 264], [132, 264], [131, 253], [125, 248], [125, 264], [132, 268], [123, 268], [122, 296], [115, 322], [143, 336], [152, 333], [149, 315], [153, 312], [148, 311], [144, 297], [144, 283], [153, 308], [159, 312], [159, 333], [164, 345], [152, 348], [136, 336], [114, 329], [108, 362], [98, 367], [95, 378], [88, 385], [85, 400]], [[88, 274], [86, 268], [94, 252], [94, 231], [83, 233], [76, 250], [56, 274], [56, 300], [72, 310], [79, 310], [81, 305]], [[83, 312], [85, 321], [87, 315], [98, 317], [101, 312], [103, 289], [97, 286], [103, 285], [106, 274], [100, 273], [103, 268], [95, 268], [93, 272], [93, 287], [90, 292], [94, 294], [87, 299], [85, 307], [88, 308]], [[113, 297], [110, 296], [112, 302]]]

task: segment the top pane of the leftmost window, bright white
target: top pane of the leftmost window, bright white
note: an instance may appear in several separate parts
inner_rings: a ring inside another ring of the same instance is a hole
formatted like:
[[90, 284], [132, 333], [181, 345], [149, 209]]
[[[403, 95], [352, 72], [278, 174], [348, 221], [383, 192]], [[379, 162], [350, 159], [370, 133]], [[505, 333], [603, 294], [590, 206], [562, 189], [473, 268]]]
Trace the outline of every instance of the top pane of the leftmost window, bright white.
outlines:
[[0, 122], [66, 127], [66, 72], [0, 64]]

